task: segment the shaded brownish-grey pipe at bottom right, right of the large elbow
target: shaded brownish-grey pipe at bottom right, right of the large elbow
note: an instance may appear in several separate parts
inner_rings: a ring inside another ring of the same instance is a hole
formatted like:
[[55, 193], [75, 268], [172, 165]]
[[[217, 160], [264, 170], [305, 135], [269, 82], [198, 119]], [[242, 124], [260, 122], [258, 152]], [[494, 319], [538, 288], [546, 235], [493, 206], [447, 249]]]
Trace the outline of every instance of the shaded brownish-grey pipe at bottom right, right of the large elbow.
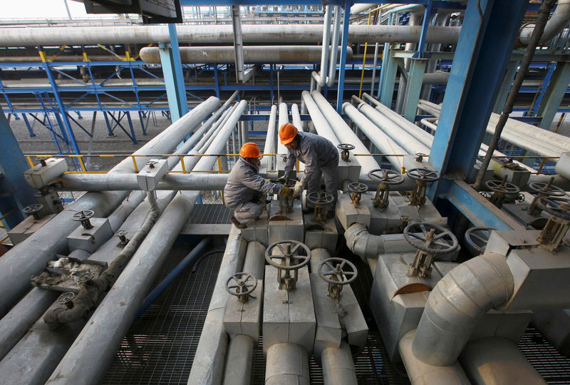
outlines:
[[504, 337], [468, 342], [459, 361], [474, 385], [546, 385], [517, 344]]

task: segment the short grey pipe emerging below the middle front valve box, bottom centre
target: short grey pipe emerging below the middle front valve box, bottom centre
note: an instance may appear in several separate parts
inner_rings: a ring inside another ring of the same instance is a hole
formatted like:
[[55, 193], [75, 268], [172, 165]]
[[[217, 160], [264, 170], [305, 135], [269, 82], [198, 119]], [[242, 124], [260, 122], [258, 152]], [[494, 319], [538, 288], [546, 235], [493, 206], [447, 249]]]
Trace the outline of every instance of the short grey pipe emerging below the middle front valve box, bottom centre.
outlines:
[[301, 345], [274, 344], [267, 349], [265, 385], [310, 385], [309, 356]]

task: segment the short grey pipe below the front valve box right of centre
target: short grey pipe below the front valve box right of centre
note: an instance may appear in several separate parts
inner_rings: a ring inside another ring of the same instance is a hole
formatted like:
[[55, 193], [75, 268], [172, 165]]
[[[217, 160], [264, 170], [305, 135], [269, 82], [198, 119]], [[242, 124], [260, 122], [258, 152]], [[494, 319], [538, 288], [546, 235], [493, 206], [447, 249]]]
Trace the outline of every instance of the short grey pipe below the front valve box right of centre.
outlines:
[[341, 347], [328, 347], [321, 354], [325, 385], [357, 385], [351, 347], [345, 340]]

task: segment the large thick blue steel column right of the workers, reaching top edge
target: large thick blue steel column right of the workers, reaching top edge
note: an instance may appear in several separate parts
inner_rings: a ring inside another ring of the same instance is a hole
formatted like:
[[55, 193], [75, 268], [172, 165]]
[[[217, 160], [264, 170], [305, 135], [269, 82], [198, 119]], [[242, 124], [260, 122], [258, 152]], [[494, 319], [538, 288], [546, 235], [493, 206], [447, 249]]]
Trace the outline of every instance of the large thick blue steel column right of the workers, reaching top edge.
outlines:
[[[482, 0], [482, 16], [477, 1], [467, 4], [430, 152], [430, 163], [444, 179], [462, 180], [472, 171], [527, 4]], [[449, 185], [433, 183], [427, 195], [449, 196]], [[457, 194], [450, 201], [458, 208], [468, 204]]]

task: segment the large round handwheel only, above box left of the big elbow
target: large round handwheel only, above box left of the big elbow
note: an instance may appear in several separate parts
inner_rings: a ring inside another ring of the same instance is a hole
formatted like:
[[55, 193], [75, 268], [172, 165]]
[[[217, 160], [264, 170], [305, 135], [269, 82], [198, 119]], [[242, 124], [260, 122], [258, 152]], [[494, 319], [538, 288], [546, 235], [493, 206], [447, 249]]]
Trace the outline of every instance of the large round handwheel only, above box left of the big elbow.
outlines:
[[454, 252], [459, 245], [450, 230], [433, 223], [412, 223], [406, 226], [404, 238], [410, 245], [428, 254]]

